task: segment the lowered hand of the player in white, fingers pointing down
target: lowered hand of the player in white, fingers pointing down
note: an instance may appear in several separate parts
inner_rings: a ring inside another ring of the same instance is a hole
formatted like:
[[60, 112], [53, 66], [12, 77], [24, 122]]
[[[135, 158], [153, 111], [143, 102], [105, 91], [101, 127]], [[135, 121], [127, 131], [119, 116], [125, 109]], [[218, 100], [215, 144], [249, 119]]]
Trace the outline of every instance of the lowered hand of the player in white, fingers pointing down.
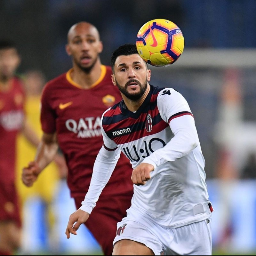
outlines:
[[[66, 228], [67, 238], [70, 237], [70, 233], [76, 235], [76, 230], [83, 224], [88, 218], [90, 214], [81, 209], [76, 210], [69, 216], [68, 226]], [[76, 224], [75, 224], [76, 222]], [[75, 225], [74, 225], [75, 224]]]

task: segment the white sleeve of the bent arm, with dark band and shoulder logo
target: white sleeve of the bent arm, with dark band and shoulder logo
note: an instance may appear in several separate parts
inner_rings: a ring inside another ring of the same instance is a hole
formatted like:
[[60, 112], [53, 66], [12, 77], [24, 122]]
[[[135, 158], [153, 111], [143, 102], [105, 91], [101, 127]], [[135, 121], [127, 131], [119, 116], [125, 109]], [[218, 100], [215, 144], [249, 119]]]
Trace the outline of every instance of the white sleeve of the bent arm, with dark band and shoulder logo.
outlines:
[[159, 93], [157, 106], [162, 119], [169, 123], [174, 137], [163, 148], [157, 149], [142, 161], [155, 168], [186, 156], [199, 145], [195, 120], [187, 101], [179, 92], [167, 90], [170, 91]]

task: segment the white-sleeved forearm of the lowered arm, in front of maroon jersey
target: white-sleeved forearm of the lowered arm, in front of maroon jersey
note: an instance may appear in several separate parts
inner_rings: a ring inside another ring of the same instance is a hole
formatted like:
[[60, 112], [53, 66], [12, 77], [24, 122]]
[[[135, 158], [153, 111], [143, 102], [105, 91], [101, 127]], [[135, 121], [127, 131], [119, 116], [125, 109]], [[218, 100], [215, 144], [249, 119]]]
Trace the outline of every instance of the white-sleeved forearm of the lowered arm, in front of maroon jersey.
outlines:
[[104, 147], [100, 149], [93, 166], [89, 190], [80, 207], [81, 210], [88, 212], [89, 214], [92, 212], [103, 188], [108, 183], [108, 180], [116, 167], [119, 157], [120, 150], [118, 148], [115, 151], [108, 151]]

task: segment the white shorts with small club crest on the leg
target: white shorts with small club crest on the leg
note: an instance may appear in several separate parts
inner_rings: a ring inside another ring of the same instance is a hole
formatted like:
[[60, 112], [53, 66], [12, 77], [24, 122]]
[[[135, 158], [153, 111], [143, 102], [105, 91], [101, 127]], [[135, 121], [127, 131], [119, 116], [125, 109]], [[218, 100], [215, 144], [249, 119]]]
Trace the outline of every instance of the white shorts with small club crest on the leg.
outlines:
[[[134, 213], [134, 212], [133, 212]], [[129, 239], [145, 244], [155, 255], [212, 255], [211, 217], [179, 228], [165, 228], [128, 214], [117, 223], [115, 243]]]

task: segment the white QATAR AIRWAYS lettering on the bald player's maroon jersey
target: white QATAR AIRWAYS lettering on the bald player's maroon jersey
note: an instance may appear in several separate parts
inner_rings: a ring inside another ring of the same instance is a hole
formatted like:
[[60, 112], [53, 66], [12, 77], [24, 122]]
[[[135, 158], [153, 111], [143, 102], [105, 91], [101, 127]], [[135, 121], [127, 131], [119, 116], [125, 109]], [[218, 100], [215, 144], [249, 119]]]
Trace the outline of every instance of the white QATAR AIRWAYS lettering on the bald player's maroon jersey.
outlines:
[[68, 119], [65, 122], [68, 131], [77, 134], [77, 138], [92, 138], [102, 135], [100, 129], [100, 117], [85, 117], [79, 120]]

